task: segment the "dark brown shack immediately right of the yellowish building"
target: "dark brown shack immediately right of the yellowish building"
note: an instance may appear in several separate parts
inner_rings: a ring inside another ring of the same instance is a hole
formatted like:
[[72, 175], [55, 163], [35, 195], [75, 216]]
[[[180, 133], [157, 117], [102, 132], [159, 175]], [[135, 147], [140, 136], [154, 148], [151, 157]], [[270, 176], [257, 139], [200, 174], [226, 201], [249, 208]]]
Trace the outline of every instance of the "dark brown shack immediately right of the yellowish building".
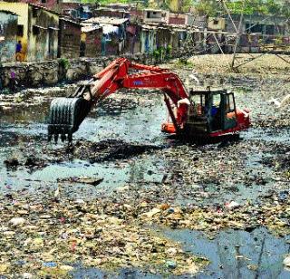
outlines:
[[78, 58], [80, 57], [81, 24], [61, 17], [58, 33], [58, 57]]

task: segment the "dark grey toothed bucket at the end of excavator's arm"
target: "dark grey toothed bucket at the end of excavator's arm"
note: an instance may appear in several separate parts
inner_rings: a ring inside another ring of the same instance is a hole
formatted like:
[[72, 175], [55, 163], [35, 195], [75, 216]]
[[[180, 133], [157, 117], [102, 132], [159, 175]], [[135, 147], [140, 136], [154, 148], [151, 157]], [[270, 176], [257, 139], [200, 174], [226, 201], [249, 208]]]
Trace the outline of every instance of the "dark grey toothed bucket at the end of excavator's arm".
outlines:
[[51, 103], [48, 121], [48, 139], [54, 138], [57, 142], [59, 136], [62, 141], [73, 140], [73, 133], [79, 129], [84, 118], [92, 107], [92, 101], [82, 97], [56, 98]]

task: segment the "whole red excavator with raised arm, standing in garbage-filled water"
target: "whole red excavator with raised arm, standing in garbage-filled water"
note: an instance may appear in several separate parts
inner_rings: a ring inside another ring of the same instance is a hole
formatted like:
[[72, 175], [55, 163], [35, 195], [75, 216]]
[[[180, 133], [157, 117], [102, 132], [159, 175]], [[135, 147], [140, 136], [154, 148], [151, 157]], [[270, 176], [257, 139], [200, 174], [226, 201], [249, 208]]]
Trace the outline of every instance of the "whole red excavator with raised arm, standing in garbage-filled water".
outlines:
[[213, 138], [247, 130], [250, 125], [249, 111], [237, 109], [233, 92], [188, 93], [176, 73], [119, 58], [72, 95], [52, 101], [49, 139], [57, 141], [60, 135], [62, 140], [72, 141], [92, 106], [121, 88], [163, 91], [171, 121], [162, 124], [162, 131], [170, 134], [189, 139]]

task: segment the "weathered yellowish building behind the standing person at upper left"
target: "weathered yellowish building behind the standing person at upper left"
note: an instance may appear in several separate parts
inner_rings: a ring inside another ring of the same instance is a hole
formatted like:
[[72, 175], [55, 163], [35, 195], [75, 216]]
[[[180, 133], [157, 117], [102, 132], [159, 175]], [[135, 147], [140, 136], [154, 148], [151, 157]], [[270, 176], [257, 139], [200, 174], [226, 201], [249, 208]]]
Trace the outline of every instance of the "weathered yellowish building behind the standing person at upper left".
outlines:
[[17, 41], [22, 43], [21, 61], [57, 58], [59, 14], [25, 3], [0, 2], [0, 10], [18, 15]]

